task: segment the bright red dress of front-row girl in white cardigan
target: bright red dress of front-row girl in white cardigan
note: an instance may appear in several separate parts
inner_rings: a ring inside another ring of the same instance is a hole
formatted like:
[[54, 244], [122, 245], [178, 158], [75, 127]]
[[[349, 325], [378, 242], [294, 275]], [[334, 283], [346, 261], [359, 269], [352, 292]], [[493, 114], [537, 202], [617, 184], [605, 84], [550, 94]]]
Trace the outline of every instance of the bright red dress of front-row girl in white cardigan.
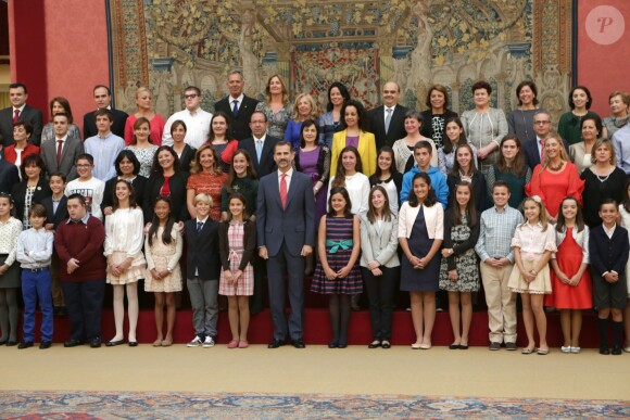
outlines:
[[[563, 243], [558, 245], [556, 262], [560, 271], [571, 278], [582, 264], [582, 249], [574, 239], [574, 228], [567, 228]], [[584, 227], [585, 229], [585, 227]], [[558, 309], [589, 309], [593, 307], [593, 283], [587, 269], [578, 285], [563, 283], [551, 270], [552, 294], [545, 295], [545, 306]]]

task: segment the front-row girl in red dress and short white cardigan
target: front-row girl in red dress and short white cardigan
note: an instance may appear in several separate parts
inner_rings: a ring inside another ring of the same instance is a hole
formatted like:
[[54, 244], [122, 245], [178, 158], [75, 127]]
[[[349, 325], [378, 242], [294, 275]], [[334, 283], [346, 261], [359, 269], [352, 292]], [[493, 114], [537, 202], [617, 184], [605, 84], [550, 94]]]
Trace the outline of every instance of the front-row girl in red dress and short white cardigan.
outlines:
[[560, 204], [556, 225], [558, 251], [552, 256], [552, 294], [545, 305], [560, 310], [563, 353], [580, 353], [582, 309], [591, 308], [593, 285], [589, 272], [589, 227], [576, 199], [567, 196]]

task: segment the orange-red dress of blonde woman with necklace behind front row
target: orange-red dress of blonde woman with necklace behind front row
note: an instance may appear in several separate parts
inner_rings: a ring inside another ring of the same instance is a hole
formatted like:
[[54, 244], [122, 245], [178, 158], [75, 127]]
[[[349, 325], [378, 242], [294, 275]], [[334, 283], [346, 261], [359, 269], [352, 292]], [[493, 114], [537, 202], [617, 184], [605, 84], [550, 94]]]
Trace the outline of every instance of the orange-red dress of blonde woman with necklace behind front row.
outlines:
[[582, 191], [584, 181], [580, 179], [578, 167], [570, 162], [559, 173], [552, 173], [541, 164], [537, 165], [531, 181], [525, 186], [527, 195], [540, 196], [552, 217], [558, 215], [560, 203], [567, 195], [572, 195], [582, 205]]

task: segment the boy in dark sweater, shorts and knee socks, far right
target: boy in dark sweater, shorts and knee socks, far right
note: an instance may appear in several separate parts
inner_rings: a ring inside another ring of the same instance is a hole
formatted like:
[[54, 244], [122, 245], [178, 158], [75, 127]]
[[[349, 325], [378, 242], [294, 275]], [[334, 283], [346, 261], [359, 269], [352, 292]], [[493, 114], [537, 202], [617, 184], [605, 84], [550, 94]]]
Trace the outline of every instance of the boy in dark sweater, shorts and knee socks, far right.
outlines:
[[[617, 202], [606, 199], [600, 205], [602, 225], [591, 231], [589, 254], [593, 279], [593, 305], [597, 309], [600, 354], [621, 354], [623, 309], [628, 301], [626, 263], [628, 231], [617, 225]], [[608, 345], [608, 317], [613, 315], [613, 349]]]

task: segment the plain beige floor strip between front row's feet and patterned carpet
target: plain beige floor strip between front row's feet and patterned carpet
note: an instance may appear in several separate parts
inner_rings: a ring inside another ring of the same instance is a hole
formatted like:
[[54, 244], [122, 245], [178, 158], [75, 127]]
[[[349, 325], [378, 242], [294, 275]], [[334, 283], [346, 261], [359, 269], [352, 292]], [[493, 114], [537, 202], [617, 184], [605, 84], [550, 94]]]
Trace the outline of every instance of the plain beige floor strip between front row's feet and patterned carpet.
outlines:
[[0, 390], [191, 391], [630, 399], [630, 354], [408, 346], [329, 349], [0, 346]]

